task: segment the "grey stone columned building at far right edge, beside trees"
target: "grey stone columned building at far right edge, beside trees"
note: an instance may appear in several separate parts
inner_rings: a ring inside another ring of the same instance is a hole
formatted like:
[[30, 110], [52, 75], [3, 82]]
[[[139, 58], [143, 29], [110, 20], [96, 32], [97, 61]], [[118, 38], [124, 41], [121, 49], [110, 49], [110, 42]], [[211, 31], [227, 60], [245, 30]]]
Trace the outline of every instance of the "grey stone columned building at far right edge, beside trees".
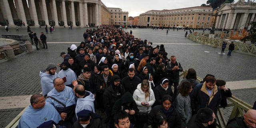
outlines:
[[256, 3], [252, 3], [250, 0], [223, 4], [218, 11], [221, 16], [216, 19], [216, 28], [249, 30], [250, 22], [256, 21]]

